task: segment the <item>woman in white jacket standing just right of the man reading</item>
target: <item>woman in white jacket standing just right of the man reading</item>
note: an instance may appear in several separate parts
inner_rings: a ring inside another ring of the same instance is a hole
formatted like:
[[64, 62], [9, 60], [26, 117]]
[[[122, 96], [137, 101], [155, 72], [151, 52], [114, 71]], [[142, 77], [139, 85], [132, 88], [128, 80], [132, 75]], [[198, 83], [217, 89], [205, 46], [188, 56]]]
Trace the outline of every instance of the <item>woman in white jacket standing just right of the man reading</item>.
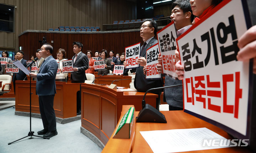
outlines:
[[63, 69], [63, 66], [62, 66], [62, 61], [65, 61], [67, 60], [66, 59], [66, 51], [62, 48], [60, 48], [58, 51], [57, 51], [57, 59], [56, 61], [59, 62], [59, 74], [56, 75], [56, 78], [55, 80], [56, 81], [60, 81], [60, 82], [67, 82], [67, 77], [68, 77], [68, 73], [63, 73], [62, 72], [62, 69]]

